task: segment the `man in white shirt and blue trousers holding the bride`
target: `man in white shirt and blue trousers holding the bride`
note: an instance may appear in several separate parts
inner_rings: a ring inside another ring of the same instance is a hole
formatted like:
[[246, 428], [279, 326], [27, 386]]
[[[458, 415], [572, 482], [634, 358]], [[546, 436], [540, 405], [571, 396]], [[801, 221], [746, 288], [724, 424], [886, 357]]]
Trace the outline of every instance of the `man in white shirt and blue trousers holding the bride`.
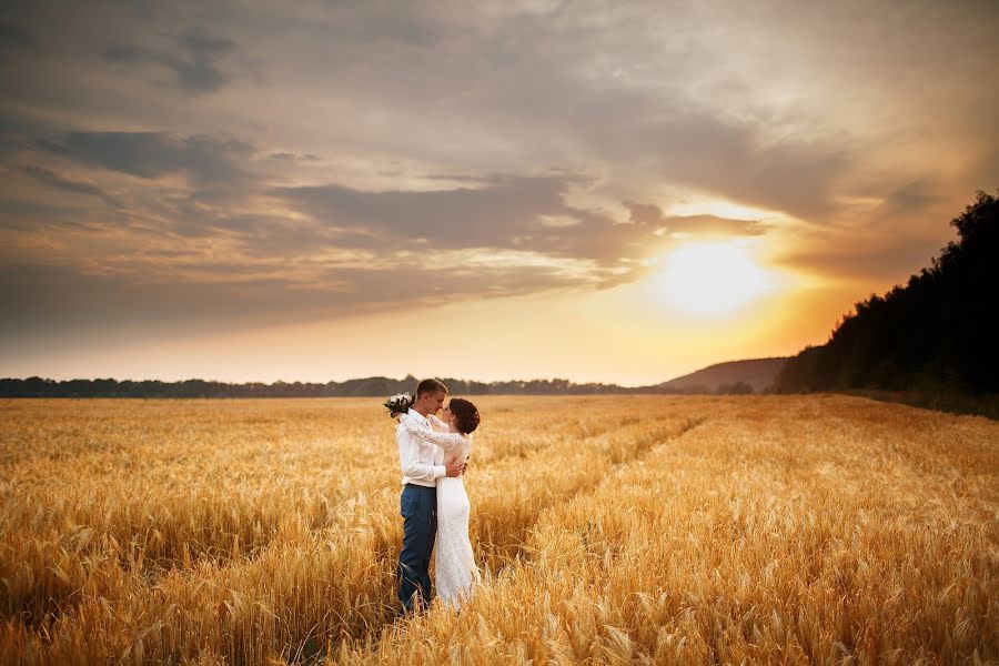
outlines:
[[[444, 406], [447, 386], [437, 380], [423, 380], [416, 386], [416, 402], [403, 418], [411, 418], [431, 430], [427, 414], [436, 414]], [[395, 428], [398, 462], [403, 473], [400, 505], [403, 516], [403, 547], [398, 554], [395, 575], [398, 578], [398, 599], [403, 614], [426, 608], [431, 602], [430, 558], [437, 536], [437, 480], [460, 476], [464, 465], [444, 465], [444, 452], [433, 444], [424, 444], [400, 424]]]

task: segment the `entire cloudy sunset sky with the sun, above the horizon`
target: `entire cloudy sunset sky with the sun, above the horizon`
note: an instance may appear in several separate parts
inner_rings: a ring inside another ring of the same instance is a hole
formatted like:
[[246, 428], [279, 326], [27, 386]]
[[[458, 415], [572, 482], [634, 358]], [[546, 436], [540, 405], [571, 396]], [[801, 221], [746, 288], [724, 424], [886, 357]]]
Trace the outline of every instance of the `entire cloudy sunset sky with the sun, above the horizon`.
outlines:
[[0, 376], [793, 355], [999, 188], [997, 33], [992, 0], [8, 0]]

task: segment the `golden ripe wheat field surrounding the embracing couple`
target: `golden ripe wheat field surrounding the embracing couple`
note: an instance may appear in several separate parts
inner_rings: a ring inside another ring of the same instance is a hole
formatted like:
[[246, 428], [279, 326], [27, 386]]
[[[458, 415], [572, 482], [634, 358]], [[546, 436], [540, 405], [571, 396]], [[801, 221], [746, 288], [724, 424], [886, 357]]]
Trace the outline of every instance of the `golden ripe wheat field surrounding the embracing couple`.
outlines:
[[406, 620], [379, 400], [3, 402], [0, 663], [999, 663], [999, 423], [473, 400], [483, 582]]

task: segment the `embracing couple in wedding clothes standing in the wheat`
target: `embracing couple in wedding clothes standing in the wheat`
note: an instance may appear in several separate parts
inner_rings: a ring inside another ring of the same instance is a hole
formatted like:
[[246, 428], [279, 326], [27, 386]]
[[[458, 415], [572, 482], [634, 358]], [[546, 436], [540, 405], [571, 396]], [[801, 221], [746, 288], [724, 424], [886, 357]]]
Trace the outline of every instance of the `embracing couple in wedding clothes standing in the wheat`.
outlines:
[[[478, 426], [478, 410], [460, 397], [444, 406], [446, 398], [443, 383], [423, 380], [407, 410], [395, 412], [406, 405], [386, 403], [398, 421], [395, 440], [403, 473], [403, 544], [396, 577], [398, 598], [407, 615], [426, 608], [433, 598], [430, 561], [435, 543], [436, 592], [445, 605], [461, 607], [478, 579], [468, 541], [468, 495], [462, 482], [472, 432]], [[435, 416], [437, 412], [443, 418]]]

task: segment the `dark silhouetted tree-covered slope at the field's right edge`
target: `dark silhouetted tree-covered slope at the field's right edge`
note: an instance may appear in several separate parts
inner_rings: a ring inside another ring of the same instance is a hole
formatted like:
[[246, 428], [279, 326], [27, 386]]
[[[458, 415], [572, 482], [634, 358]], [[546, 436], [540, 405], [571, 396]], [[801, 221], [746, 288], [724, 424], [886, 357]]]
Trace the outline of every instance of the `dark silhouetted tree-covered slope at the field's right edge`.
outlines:
[[999, 200], [979, 192], [951, 221], [959, 240], [885, 296], [857, 303], [821, 346], [789, 359], [778, 393], [999, 393]]

